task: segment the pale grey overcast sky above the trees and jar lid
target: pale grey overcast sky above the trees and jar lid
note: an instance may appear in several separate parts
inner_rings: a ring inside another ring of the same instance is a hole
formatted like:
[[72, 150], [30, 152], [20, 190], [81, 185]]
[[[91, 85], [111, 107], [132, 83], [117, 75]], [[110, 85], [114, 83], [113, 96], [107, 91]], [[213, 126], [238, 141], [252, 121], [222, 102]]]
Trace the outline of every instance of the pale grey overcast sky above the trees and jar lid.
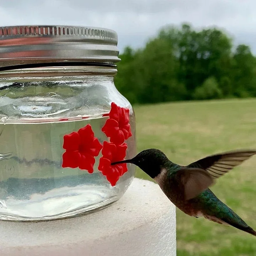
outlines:
[[110, 28], [118, 47], [142, 47], [166, 24], [225, 28], [256, 53], [255, 0], [0, 0], [0, 26], [80, 25]]

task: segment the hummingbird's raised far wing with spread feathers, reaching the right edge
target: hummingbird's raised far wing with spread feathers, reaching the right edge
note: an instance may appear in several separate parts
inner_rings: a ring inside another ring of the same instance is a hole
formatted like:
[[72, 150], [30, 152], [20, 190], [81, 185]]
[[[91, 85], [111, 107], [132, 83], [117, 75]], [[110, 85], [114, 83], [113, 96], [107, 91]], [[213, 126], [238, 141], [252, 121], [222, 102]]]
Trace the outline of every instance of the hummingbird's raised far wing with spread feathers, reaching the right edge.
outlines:
[[206, 158], [193, 162], [187, 167], [204, 169], [216, 179], [255, 154], [256, 150], [229, 151], [222, 154], [207, 156]]

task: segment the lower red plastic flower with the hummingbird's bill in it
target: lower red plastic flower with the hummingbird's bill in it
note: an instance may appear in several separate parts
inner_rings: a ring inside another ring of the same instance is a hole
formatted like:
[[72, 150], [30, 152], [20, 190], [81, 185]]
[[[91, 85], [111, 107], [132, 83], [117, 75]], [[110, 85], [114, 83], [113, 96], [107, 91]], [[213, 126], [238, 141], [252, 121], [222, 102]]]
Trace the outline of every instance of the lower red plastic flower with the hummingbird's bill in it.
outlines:
[[128, 171], [127, 164], [111, 165], [111, 162], [124, 160], [126, 156], [127, 144], [115, 145], [103, 142], [102, 157], [100, 158], [98, 170], [106, 176], [112, 186], [115, 186], [119, 178]]

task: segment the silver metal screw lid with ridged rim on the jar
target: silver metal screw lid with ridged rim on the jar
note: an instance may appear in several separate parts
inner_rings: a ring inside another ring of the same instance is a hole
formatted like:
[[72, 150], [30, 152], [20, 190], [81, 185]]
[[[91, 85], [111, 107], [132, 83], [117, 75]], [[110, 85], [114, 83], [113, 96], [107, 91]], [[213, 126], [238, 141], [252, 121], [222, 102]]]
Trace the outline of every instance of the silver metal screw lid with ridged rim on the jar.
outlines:
[[117, 33], [79, 26], [0, 27], [0, 67], [33, 63], [118, 62]]

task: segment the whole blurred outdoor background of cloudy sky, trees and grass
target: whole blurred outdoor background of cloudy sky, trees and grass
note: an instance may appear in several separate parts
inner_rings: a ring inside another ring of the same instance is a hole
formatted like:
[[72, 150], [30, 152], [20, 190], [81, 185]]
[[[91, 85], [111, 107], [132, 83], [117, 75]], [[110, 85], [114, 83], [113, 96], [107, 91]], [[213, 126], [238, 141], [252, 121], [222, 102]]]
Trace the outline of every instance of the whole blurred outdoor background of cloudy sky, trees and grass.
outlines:
[[[117, 89], [133, 104], [138, 151], [187, 165], [256, 148], [253, 0], [1, 0], [0, 26], [80, 25], [118, 33]], [[256, 229], [256, 157], [213, 192]], [[137, 177], [149, 179], [139, 169]], [[177, 209], [177, 255], [255, 256], [256, 240]]]

